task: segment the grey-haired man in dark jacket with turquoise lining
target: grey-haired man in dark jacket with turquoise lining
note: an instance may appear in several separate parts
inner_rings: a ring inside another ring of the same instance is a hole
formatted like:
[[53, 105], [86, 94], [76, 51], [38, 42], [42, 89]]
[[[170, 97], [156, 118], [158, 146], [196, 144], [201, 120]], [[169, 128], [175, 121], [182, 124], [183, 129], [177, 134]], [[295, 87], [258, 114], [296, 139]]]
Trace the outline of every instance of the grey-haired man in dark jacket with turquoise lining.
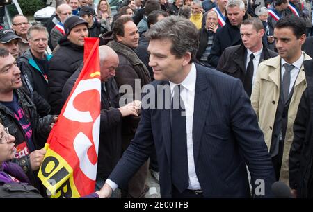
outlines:
[[51, 55], [45, 54], [48, 32], [43, 26], [31, 26], [27, 33], [30, 48], [19, 58], [19, 67], [26, 73], [34, 91], [48, 100], [48, 62]]

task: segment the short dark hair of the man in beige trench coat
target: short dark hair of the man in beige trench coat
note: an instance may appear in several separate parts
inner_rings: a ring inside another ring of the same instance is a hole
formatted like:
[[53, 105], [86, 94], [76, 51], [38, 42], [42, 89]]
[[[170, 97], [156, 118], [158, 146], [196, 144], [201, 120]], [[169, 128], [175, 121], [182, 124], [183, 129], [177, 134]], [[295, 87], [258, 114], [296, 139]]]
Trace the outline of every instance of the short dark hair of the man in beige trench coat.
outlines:
[[281, 18], [279, 21], [277, 21], [275, 28], [291, 28], [297, 39], [305, 34], [306, 30], [305, 21], [294, 15], [288, 15]]

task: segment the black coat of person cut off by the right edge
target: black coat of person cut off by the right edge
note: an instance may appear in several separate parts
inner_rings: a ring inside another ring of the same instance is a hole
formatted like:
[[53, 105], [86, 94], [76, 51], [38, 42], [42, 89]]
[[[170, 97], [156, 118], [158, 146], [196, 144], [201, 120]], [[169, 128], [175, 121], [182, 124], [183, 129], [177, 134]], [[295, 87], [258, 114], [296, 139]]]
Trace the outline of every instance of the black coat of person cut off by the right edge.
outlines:
[[307, 88], [294, 121], [294, 141], [289, 154], [289, 186], [295, 197], [313, 197], [313, 60], [303, 62]]

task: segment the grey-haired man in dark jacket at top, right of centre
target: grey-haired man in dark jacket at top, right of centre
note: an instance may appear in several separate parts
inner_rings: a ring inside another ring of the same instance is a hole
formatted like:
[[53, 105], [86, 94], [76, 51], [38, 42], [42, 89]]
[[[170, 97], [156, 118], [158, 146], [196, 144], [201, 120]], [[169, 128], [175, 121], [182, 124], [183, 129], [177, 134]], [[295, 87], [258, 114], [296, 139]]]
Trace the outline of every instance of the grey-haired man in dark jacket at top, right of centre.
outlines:
[[217, 67], [220, 55], [225, 48], [242, 44], [239, 27], [241, 22], [248, 17], [245, 13], [245, 4], [242, 0], [230, 0], [226, 5], [226, 25], [216, 32], [208, 62], [212, 67]]

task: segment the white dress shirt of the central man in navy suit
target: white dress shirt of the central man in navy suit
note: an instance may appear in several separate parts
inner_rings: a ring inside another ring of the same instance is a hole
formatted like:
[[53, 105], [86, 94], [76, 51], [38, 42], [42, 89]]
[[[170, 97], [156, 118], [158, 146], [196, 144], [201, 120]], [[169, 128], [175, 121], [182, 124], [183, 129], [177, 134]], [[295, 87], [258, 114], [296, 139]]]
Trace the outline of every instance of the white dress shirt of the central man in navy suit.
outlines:
[[[182, 81], [181, 97], [184, 101], [186, 110], [186, 135], [187, 135], [187, 156], [188, 156], [188, 175], [189, 175], [189, 186], [188, 189], [200, 190], [200, 183], [195, 173], [195, 160], [193, 157], [193, 109], [195, 103], [195, 80], [196, 80], [196, 69], [195, 64], [191, 64], [191, 71], [188, 76]], [[170, 91], [174, 96], [175, 83], [170, 82]], [[170, 141], [168, 141], [170, 142]], [[106, 183], [111, 186], [113, 191], [118, 188], [118, 185], [110, 179], [106, 179]]]

